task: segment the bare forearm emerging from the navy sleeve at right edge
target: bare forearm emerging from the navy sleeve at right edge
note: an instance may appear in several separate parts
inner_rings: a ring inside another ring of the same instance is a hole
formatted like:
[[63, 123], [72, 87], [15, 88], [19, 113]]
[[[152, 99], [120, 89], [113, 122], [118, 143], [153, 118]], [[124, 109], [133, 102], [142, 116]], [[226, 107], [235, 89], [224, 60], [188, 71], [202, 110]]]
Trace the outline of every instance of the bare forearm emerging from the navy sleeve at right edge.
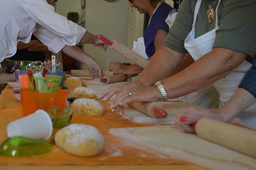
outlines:
[[242, 113], [248, 106], [255, 102], [255, 97], [249, 91], [239, 88], [238, 91], [230, 98], [228, 103], [220, 108], [217, 113], [223, 121], [230, 122], [236, 115]]

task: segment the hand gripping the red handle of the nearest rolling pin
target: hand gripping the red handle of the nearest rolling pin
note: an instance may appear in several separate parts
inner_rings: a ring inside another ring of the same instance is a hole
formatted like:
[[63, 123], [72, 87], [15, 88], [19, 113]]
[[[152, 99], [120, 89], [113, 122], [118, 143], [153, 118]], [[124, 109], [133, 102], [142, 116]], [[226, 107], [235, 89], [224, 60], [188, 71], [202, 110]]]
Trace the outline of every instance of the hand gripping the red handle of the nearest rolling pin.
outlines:
[[190, 108], [188, 111], [178, 113], [176, 123], [181, 125], [181, 128], [185, 132], [195, 132], [191, 127], [193, 123], [196, 123], [201, 118], [210, 118], [223, 121], [223, 113], [219, 113], [217, 109], [209, 108]]

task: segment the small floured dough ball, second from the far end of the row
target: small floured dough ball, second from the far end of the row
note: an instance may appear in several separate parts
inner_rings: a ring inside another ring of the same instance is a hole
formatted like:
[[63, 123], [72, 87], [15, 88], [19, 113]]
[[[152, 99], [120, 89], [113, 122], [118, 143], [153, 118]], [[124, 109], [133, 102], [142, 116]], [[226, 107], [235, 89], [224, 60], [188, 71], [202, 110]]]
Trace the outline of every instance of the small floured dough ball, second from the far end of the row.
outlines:
[[73, 91], [73, 97], [75, 98], [94, 98], [97, 99], [97, 92], [94, 89], [80, 86]]

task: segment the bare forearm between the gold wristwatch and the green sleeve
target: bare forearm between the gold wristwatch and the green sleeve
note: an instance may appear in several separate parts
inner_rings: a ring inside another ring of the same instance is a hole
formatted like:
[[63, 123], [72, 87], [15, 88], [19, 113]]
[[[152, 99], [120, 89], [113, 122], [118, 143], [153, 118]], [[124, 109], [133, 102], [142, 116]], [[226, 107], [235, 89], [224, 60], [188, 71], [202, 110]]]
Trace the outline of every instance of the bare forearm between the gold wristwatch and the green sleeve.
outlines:
[[216, 48], [193, 62], [181, 72], [164, 80], [169, 98], [176, 98], [197, 91], [225, 77], [238, 67], [246, 55], [240, 52]]

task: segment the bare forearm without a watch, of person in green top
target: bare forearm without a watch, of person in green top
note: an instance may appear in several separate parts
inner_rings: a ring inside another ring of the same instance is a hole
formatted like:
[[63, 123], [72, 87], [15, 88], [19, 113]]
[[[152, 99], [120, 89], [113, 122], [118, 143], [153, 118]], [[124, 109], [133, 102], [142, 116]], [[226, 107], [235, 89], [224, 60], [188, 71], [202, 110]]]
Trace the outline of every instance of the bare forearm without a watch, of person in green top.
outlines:
[[151, 86], [156, 81], [165, 79], [174, 71], [184, 55], [161, 45], [159, 50], [151, 57], [148, 66], [139, 75], [137, 83]]

